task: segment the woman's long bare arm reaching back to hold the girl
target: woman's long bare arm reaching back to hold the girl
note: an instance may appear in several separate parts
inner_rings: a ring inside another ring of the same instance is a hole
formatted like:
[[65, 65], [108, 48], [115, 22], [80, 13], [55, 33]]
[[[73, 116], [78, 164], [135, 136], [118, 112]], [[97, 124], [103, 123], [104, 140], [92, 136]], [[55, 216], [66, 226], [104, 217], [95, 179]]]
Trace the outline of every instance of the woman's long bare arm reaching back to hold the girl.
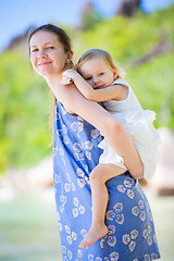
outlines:
[[144, 176], [140, 157], [122, 124], [97, 102], [84, 98], [73, 84], [59, 85], [52, 91], [65, 108], [101, 132], [110, 146], [124, 158], [125, 165], [134, 178]]

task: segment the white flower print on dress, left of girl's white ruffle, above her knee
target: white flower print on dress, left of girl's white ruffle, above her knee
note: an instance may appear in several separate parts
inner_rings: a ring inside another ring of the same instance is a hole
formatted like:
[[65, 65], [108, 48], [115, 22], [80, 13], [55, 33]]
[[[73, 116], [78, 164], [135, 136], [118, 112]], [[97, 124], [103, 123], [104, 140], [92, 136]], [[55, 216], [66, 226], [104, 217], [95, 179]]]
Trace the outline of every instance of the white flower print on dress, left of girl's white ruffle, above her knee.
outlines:
[[85, 156], [88, 160], [91, 160], [91, 152], [90, 150], [92, 149], [94, 144], [91, 141], [86, 141], [82, 144], [75, 142], [73, 145], [74, 148], [74, 157], [77, 161], [79, 160], [85, 160]]

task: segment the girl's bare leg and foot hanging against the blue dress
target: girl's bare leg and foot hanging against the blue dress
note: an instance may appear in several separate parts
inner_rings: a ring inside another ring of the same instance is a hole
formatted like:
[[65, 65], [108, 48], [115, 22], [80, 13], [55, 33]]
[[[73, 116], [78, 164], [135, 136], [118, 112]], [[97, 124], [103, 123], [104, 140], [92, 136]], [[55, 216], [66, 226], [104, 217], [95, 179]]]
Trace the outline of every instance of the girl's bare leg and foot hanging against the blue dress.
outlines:
[[92, 196], [92, 222], [91, 226], [79, 244], [79, 248], [87, 248], [108, 233], [104, 224], [105, 210], [108, 204], [108, 189], [105, 182], [121, 175], [125, 169], [114, 164], [98, 164], [90, 173], [90, 187]]

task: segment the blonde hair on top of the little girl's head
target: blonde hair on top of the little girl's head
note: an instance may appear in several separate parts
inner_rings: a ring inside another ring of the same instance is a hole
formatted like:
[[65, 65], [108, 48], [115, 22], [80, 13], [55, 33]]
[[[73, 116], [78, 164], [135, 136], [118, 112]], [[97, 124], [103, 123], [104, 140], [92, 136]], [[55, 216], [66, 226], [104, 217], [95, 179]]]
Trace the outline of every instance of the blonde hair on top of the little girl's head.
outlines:
[[112, 58], [112, 55], [104, 51], [104, 50], [101, 50], [101, 49], [90, 49], [86, 52], [84, 52], [77, 60], [77, 62], [75, 63], [75, 66], [74, 69], [80, 74], [80, 66], [94, 59], [94, 58], [102, 58], [104, 60], [104, 62], [107, 63], [107, 65], [111, 69], [111, 70], [115, 70], [116, 71], [116, 78], [120, 77], [120, 78], [124, 78], [124, 71], [121, 70], [121, 67], [117, 65], [117, 63], [114, 61], [114, 59]]

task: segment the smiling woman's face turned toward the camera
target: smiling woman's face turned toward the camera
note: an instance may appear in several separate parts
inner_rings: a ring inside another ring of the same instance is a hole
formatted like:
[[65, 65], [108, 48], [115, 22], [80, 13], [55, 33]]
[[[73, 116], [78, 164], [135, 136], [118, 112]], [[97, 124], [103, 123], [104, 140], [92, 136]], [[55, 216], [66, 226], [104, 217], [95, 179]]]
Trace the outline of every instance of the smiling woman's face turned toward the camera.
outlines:
[[30, 62], [37, 74], [45, 77], [62, 73], [67, 53], [54, 33], [37, 32], [30, 38], [29, 49]]

